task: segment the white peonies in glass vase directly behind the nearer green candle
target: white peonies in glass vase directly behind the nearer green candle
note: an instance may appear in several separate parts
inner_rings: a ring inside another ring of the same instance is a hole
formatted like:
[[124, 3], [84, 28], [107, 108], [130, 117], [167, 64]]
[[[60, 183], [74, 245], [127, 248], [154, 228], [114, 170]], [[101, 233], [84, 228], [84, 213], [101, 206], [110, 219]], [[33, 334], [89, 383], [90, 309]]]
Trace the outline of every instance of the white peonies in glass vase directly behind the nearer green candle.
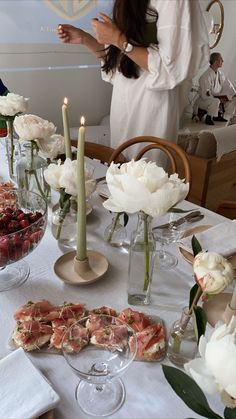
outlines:
[[[52, 223], [56, 225], [55, 238], [61, 237], [62, 228], [65, 218], [69, 214], [70, 209], [76, 204], [78, 193], [77, 188], [77, 161], [66, 159], [62, 164], [60, 160], [51, 163], [44, 171], [44, 178], [50, 187], [60, 193], [59, 212], [56, 214]], [[85, 166], [85, 191], [88, 198], [96, 188], [96, 181], [92, 177], [92, 169]], [[74, 218], [73, 234], [76, 232], [76, 217]]]

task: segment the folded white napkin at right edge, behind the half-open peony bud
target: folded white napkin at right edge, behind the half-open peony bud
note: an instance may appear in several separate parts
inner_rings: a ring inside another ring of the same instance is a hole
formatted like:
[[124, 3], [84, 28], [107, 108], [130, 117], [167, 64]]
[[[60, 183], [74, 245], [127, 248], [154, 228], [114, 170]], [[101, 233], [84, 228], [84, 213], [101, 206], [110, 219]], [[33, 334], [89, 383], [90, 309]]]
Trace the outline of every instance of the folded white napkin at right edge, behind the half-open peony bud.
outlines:
[[[203, 250], [220, 253], [228, 257], [236, 253], [236, 220], [217, 224], [202, 233], [196, 233]], [[192, 236], [181, 239], [181, 246], [192, 252]]]

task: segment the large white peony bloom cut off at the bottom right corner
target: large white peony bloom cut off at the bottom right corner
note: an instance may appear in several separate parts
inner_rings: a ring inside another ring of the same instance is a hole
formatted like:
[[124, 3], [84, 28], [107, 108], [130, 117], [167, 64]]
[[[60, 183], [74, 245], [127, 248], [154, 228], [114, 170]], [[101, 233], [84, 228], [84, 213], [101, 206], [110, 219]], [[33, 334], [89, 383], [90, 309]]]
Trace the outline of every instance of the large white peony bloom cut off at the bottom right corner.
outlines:
[[216, 325], [207, 342], [199, 341], [201, 358], [184, 365], [187, 373], [208, 394], [219, 393], [223, 403], [236, 407], [236, 316], [229, 325]]

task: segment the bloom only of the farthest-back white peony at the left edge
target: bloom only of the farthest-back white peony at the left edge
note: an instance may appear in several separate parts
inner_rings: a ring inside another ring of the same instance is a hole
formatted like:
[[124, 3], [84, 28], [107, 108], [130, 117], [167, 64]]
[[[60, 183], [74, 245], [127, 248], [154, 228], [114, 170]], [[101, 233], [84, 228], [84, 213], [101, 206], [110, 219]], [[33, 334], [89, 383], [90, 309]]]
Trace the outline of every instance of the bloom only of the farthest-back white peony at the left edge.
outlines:
[[28, 100], [15, 93], [8, 93], [6, 96], [0, 96], [0, 114], [4, 116], [14, 116], [18, 113], [26, 112]]

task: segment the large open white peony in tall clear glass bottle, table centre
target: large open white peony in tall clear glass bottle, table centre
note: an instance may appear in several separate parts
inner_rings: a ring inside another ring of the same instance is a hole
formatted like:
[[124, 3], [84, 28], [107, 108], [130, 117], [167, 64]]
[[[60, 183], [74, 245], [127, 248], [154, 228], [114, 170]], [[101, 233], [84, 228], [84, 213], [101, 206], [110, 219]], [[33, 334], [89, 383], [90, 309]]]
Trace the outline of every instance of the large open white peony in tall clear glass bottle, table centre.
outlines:
[[[132, 235], [129, 255], [129, 302], [150, 303], [152, 254], [154, 244], [150, 220], [164, 215], [171, 207], [182, 201], [189, 190], [189, 184], [168, 174], [153, 162], [144, 159], [128, 163], [112, 163], [106, 174], [110, 197], [104, 207], [115, 213], [139, 213], [138, 231]], [[133, 258], [143, 258], [143, 270]], [[135, 270], [135, 271], [134, 271]], [[135, 287], [133, 288], [133, 279]]]

